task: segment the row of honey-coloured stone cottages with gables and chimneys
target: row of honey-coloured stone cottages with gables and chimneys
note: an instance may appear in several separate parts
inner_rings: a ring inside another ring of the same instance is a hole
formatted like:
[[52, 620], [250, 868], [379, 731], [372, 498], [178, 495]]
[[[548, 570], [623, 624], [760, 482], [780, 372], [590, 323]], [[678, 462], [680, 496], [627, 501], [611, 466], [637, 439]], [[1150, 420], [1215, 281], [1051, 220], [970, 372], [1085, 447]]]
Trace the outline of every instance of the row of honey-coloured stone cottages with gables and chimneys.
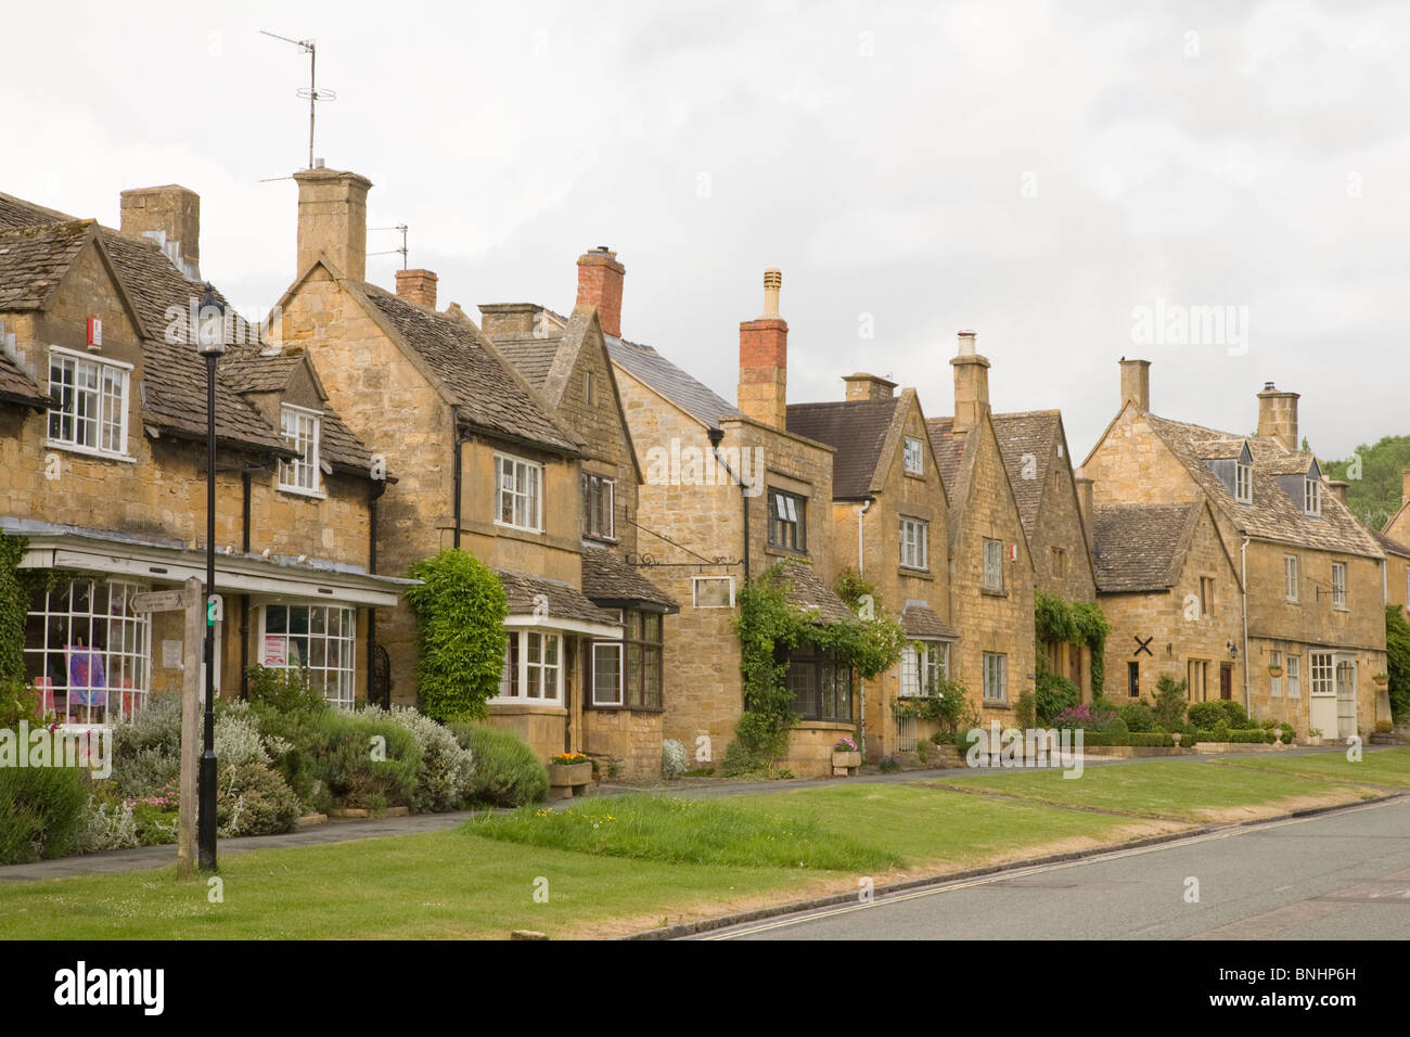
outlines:
[[[819, 622], [860, 570], [909, 639], [866, 686], [794, 653], [798, 773], [822, 773], [842, 735], [873, 758], [914, 748], [926, 724], [893, 705], [939, 676], [986, 721], [1012, 715], [1039, 653], [1090, 696], [1094, 645], [1038, 643], [1039, 591], [1100, 602], [1112, 698], [1169, 673], [1300, 732], [1389, 718], [1382, 608], [1404, 600], [1410, 516], [1356, 523], [1299, 450], [1296, 394], [1269, 384], [1258, 433], [1221, 433], [1151, 413], [1149, 365], [1122, 360], [1080, 477], [1058, 411], [991, 412], [967, 332], [952, 416], [869, 374], [790, 405], [770, 271], [730, 404], [622, 337], [611, 251], [578, 260], [568, 316], [496, 303], [477, 326], [437, 309], [429, 271], [399, 271], [395, 293], [367, 281], [367, 179], [295, 181], [279, 323], [219, 372], [221, 694], [261, 663], [305, 667], [344, 704], [415, 701], [398, 574], [461, 546], [510, 602], [492, 721], [629, 777], [657, 772], [663, 738], [712, 762], [732, 741], [736, 594], [777, 562]], [[123, 192], [120, 230], [0, 195], [0, 532], [24, 538], [21, 567], [56, 573], [30, 602], [24, 662], [72, 722], [179, 683], [178, 617], [130, 597], [204, 567], [204, 370], [182, 344], [199, 258], [185, 188]]]

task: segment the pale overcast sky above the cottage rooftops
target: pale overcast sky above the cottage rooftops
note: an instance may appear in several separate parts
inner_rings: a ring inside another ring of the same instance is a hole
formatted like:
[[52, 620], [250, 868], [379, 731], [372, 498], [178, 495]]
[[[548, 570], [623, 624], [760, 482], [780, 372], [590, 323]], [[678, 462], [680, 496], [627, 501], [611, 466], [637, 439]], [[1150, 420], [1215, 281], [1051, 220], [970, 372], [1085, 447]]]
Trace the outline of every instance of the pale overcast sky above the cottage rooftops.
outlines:
[[[121, 189], [192, 188], [243, 308], [295, 274], [295, 185], [261, 181], [307, 164], [307, 56], [264, 28], [317, 41], [317, 155], [372, 179], [369, 226], [409, 224], [443, 306], [567, 310], [605, 244], [623, 334], [733, 399], [780, 267], [792, 402], [870, 370], [948, 415], [971, 327], [994, 409], [1062, 408], [1077, 460], [1121, 356], [1160, 415], [1249, 432], [1272, 380], [1324, 457], [1410, 433], [1404, 4], [47, 3], [4, 28], [0, 189], [117, 226]], [[1180, 330], [1201, 306], [1220, 341]]]

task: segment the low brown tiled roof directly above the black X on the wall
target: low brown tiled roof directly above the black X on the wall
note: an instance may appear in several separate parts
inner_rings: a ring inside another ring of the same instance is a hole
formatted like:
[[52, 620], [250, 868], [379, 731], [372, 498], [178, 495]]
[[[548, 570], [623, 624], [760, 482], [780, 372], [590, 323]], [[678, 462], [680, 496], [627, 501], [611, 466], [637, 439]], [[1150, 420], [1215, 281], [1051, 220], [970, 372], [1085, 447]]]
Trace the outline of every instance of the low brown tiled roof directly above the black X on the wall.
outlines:
[[1204, 501], [1093, 508], [1093, 569], [1104, 594], [1163, 591], [1180, 577]]

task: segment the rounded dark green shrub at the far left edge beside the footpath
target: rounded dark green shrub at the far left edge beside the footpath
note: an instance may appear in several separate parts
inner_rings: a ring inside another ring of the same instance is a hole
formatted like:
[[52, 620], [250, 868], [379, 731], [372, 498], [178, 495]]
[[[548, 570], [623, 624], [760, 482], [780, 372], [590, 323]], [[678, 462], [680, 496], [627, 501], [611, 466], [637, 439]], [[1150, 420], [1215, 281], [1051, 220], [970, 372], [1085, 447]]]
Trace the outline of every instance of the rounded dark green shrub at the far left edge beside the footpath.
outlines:
[[0, 863], [78, 851], [89, 787], [78, 768], [0, 768]]

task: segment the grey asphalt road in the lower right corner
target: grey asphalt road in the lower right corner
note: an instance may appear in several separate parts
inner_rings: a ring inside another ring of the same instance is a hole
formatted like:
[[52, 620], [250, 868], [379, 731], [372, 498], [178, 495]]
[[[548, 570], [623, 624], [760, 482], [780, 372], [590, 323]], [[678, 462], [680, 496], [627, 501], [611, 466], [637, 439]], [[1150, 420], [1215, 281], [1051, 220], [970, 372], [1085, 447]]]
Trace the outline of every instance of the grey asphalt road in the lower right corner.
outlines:
[[[1197, 902], [1187, 902], [1189, 880]], [[1014, 868], [702, 940], [1404, 940], [1410, 800]]]

